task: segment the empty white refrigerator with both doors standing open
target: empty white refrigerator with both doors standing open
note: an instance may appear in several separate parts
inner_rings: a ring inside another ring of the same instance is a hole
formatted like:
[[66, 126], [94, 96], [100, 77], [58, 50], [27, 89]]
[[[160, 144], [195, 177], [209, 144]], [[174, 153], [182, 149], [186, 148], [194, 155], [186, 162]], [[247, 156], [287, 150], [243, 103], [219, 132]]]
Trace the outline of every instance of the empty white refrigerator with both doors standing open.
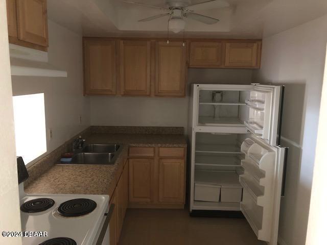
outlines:
[[287, 155], [278, 143], [283, 94], [273, 85], [192, 86], [191, 215], [241, 211], [259, 240], [277, 245]]

